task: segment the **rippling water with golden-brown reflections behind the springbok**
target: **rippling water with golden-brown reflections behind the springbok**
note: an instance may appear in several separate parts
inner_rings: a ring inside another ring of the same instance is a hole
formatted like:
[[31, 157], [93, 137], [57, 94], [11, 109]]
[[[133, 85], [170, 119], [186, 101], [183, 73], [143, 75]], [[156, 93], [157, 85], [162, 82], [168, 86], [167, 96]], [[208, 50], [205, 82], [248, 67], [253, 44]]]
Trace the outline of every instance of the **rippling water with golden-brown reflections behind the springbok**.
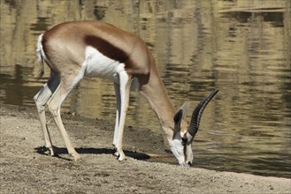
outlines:
[[[290, 1], [1, 1], [4, 104], [34, 106], [49, 75], [35, 56], [37, 35], [67, 20], [99, 19], [142, 36], [175, 107], [220, 90], [205, 110], [195, 145], [203, 168], [290, 177]], [[110, 82], [84, 79], [63, 111], [115, 121]], [[150, 123], [149, 123], [150, 121]], [[126, 120], [161, 132], [133, 92]], [[173, 162], [171, 159], [167, 162]]]

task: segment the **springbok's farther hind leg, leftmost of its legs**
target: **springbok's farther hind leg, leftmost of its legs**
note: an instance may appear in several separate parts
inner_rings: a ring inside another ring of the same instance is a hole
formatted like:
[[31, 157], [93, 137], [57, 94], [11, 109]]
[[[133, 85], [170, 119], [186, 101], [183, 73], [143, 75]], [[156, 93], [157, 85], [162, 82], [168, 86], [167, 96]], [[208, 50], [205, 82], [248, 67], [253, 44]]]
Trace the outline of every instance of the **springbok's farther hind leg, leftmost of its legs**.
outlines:
[[46, 123], [45, 104], [47, 103], [47, 101], [49, 101], [51, 94], [56, 91], [58, 85], [58, 76], [54, 71], [51, 71], [48, 82], [42, 87], [42, 89], [38, 93], [36, 93], [36, 95], [34, 95], [34, 102], [42, 125], [45, 147], [50, 150], [50, 155], [54, 155], [55, 152], [53, 150], [53, 146], [50, 140], [50, 133]]

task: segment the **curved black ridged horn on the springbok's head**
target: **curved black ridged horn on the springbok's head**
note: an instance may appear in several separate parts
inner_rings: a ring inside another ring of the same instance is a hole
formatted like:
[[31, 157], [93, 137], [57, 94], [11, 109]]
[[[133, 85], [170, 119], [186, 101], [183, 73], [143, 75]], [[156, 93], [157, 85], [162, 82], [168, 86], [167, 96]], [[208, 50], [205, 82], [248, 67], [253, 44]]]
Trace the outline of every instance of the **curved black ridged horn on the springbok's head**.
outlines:
[[207, 104], [211, 101], [213, 96], [215, 96], [216, 93], [218, 93], [219, 90], [212, 89], [211, 93], [209, 93], [203, 100], [199, 102], [199, 104], [196, 106], [195, 110], [193, 111], [190, 126], [188, 129], [188, 133], [192, 136], [192, 138], [195, 137], [196, 132], [198, 131], [200, 119], [203, 114], [203, 110], [206, 108]]

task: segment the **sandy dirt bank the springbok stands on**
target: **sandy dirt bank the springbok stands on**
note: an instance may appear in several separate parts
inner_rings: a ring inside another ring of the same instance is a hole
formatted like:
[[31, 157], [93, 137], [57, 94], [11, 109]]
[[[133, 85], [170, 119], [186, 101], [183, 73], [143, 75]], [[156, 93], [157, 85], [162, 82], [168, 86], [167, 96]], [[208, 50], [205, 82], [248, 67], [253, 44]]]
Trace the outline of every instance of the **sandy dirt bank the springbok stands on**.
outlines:
[[34, 108], [1, 105], [0, 116], [0, 193], [291, 193], [290, 179], [144, 161], [167, 154], [161, 134], [147, 129], [126, 127], [128, 157], [119, 162], [112, 154], [114, 123], [73, 114], [63, 121], [82, 160], [66, 153], [48, 119], [58, 153], [51, 157]]

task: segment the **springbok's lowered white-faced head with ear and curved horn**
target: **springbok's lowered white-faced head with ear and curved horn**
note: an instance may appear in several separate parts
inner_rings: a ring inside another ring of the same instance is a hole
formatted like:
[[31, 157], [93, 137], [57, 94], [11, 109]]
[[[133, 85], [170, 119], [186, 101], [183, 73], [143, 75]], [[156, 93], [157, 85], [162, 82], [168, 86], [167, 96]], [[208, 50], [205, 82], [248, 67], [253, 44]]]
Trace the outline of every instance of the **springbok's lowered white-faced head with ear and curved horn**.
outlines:
[[183, 119], [187, 115], [189, 103], [186, 102], [177, 111], [174, 120], [174, 133], [170, 142], [171, 151], [182, 166], [190, 167], [193, 163], [192, 142], [198, 131], [199, 123], [203, 115], [203, 110], [211, 99], [218, 93], [217, 89], [213, 89], [199, 104], [195, 107], [188, 129], [182, 125]]

